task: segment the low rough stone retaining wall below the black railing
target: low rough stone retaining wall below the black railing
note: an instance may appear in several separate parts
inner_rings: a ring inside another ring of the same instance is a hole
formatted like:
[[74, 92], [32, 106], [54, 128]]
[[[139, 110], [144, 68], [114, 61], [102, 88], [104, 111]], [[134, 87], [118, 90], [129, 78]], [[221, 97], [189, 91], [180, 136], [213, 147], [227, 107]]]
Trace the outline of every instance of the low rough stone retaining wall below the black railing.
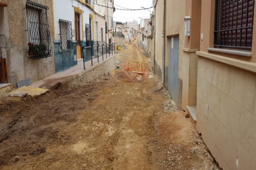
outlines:
[[116, 59], [115, 56], [112, 56], [102, 61], [101, 63], [98, 63], [89, 69], [82, 71], [76, 76], [72, 76], [72, 78], [68, 79], [67, 81], [59, 83], [59, 87], [61, 89], [66, 89], [82, 86], [86, 83], [101, 79], [104, 77], [104, 75], [108, 75], [115, 69], [115, 67]]

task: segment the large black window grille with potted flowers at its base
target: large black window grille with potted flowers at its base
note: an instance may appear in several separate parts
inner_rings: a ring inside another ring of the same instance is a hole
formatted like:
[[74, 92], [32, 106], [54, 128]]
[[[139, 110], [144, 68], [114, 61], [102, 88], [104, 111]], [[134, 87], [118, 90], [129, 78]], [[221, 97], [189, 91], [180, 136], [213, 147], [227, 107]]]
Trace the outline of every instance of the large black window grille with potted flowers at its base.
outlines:
[[28, 56], [31, 60], [52, 56], [47, 17], [49, 8], [30, 0], [26, 3], [28, 27]]

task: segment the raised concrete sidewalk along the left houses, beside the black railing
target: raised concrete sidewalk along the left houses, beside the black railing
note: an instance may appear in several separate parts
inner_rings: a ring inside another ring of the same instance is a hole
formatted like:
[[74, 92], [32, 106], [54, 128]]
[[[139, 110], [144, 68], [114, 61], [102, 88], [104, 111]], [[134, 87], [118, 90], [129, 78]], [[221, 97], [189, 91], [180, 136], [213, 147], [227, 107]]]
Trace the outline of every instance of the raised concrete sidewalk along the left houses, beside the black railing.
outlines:
[[[100, 56], [99, 58], [93, 59], [93, 66], [92, 66], [92, 61], [91, 60], [87, 61], [87, 62], [84, 62], [84, 66], [86, 68], [85, 70], [84, 70], [83, 64], [82, 65], [76, 65], [76, 66], [74, 66], [74, 67], [72, 67], [68, 70], [58, 72], [57, 74], [54, 74], [54, 75], [46, 77], [42, 80], [36, 81], [36, 82], [32, 83], [32, 85], [30, 85], [30, 87], [40, 87], [40, 88], [44, 88], [44, 89], [53, 89], [53, 88], [57, 88], [57, 87], [60, 86], [62, 89], [67, 88], [66, 86], [69, 86], [69, 85], [67, 85], [67, 82], [70, 82], [71, 79], [77, 79], [77, 78], [83, 76], [87, 72], [99, 67], [100, 65], [104, 64], [105, 62], [109, 62], [109, 60], [113, 60], [114, 57], [115, 57], [114, 53], [113, 53], [113, 55], [112, 55], [112, 53], [110, 55], [108, 54], [107, 59], [106, 59], [106, 55], [104, 55], [103, 60], [102, 60], [102, 56]], [[99, 62], [98, 62], [98, 59], [99, 59]], [[111, 67], [113, 67], [113, 68], [115, 68], [115, 66], [113, 66], [114, 63], [115, 62], [111, 61], [111, 65], [112, 65]], [[91, 81], [91, 80], [97, 79], [98, 77], [103, 76], [103, 75], [97, 75], [97, 71], [93, 71], [93, 72], [96, 72], [96, 73], [94, 73], [96, 75], [92, 75], [92, 73], [91, 73], [90, 75], [93, 78], [89, 79], [88, 81]], [[98, 72], [99, 72], [98, 74], [100, 74], [100, 73], [102, 74], [102, 71], [98, 71]], [[106, 72], [106, 71], [103, 71], [103, 72], [108, 74], [108, 72]], [[83, 81], [83, 83], [85, 83], [86, 81], [87, 80]], [[63, 84], [66, 84], [65, 87], [63, 86]]]

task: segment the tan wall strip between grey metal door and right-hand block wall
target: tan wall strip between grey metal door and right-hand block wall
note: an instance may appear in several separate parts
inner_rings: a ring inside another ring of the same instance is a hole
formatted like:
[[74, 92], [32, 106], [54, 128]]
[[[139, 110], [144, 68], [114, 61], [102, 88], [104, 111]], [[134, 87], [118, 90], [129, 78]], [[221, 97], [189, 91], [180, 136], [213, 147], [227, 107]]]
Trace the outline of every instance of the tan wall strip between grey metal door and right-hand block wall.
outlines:
[[[182, 109], [197, 105], [197, 60], [200, 48], [201, 1], [186, 1], [185, 16], [190, 19], [190, 36], [184, 37]], [[196, 10], [195, 10], [196, 9]]]

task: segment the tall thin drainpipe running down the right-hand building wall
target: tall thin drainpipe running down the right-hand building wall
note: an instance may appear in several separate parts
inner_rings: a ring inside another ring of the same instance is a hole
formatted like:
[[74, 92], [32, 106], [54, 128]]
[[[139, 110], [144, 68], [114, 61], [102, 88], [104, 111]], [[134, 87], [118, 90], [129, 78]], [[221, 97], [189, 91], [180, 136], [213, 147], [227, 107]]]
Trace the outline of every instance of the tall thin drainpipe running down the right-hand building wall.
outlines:
[[164, 87], [164, 59], [165, 59], [165, 8], [166, 0], [163, 1], [163, 46], [162, 46], [162, 86]]

